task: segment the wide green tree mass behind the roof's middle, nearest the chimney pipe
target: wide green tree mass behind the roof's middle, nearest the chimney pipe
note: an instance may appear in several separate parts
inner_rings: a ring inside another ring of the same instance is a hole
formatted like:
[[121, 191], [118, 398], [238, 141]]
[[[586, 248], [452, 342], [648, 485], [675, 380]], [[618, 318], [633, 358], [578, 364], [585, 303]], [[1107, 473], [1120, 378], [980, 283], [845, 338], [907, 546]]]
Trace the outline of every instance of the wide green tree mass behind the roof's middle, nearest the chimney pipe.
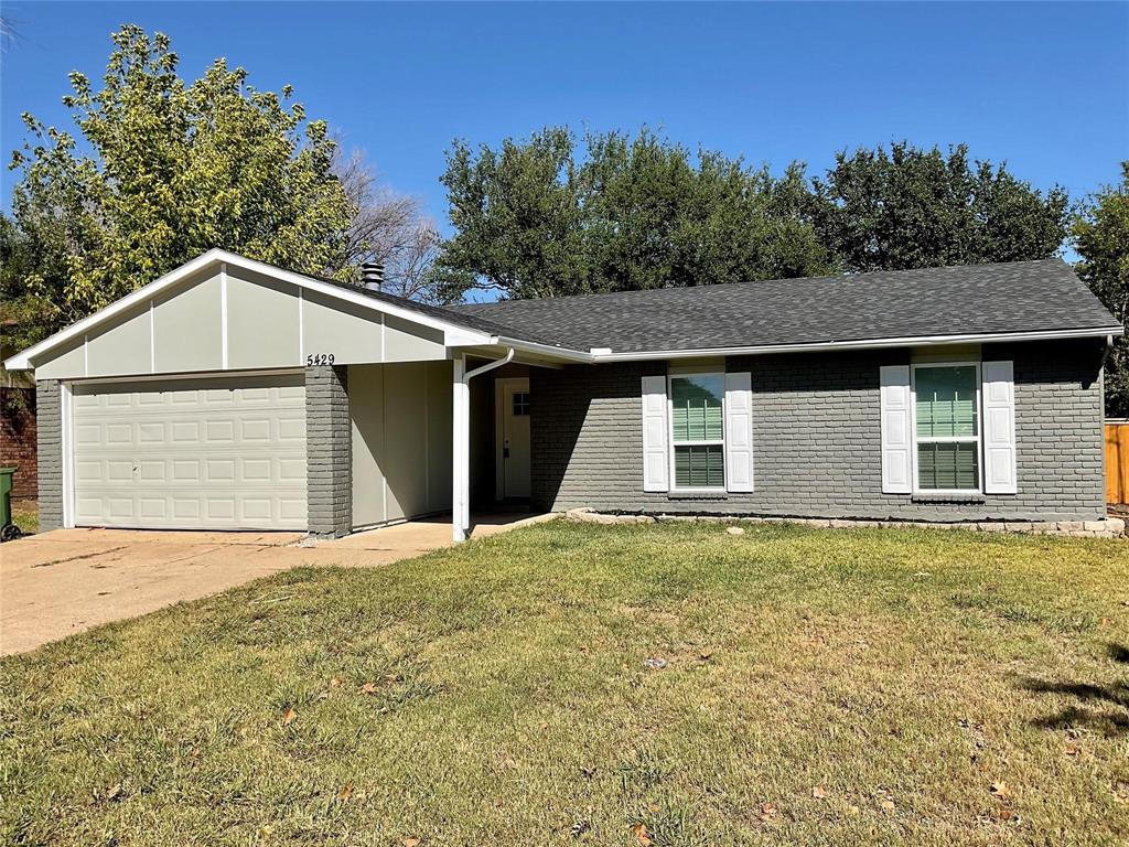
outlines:
[[804, 169], [781, 178], [644, 129], [566, 128], [499, 149], [455, 142], [443, 176], [456, 234], [436, 274], [449, 296], [508, 297], [710, 285], [826, 271]]

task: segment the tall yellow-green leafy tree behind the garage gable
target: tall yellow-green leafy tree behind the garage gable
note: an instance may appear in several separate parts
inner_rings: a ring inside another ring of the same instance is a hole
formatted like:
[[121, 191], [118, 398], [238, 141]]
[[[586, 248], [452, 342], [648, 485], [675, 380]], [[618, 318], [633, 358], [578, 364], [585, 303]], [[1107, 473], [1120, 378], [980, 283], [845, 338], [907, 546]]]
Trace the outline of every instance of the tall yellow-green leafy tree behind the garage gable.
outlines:
[[356, 208], [325, 122], [224, 60], [186, 84], [165, 35], [124, 26], [112, 38], [100, 88], [70, 76], [77, 136], [24, 115], [14, 222], [0, 230], [16, 259], [0, 277], [9, 321], [45, 334], [215, 246], [352, 274]]

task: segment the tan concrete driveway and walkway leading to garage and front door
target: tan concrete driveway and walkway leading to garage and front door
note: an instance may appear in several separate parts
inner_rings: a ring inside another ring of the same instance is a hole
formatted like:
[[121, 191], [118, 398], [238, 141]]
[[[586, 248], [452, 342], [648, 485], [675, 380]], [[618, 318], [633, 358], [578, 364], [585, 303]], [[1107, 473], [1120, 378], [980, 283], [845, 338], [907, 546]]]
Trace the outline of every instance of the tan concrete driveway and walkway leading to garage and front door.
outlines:
[[[471, 538], [537, 521], [483, 515]], [[301, 533], [55, 530], [0, 547], [0, 655], [304, 565], [373, 567], [450, 544], [449, 519], [333, 541]]]

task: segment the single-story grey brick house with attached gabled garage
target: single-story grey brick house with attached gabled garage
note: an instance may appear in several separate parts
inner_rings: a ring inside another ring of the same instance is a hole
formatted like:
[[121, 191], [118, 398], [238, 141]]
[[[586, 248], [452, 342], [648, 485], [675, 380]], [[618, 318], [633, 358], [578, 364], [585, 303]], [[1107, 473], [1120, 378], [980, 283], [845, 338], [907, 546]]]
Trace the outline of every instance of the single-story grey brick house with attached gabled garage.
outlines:
[[212, 250], [6, 366], [44, 527], [458, 540], [499, 501], [1100, 519], [1121, 332], [1058, 260], [440, 308]]

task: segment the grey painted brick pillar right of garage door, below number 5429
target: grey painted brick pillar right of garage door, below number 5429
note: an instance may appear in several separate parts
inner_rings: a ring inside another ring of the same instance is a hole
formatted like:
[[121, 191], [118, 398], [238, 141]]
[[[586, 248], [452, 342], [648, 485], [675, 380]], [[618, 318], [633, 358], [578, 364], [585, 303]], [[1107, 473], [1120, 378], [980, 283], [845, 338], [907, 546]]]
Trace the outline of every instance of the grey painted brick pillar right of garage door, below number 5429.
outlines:
[[352, 529], [352, 434], [347, 368], [306, 368], [306, 497], [312, 535]]

